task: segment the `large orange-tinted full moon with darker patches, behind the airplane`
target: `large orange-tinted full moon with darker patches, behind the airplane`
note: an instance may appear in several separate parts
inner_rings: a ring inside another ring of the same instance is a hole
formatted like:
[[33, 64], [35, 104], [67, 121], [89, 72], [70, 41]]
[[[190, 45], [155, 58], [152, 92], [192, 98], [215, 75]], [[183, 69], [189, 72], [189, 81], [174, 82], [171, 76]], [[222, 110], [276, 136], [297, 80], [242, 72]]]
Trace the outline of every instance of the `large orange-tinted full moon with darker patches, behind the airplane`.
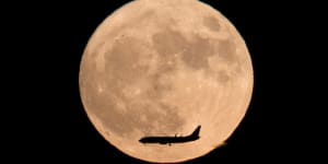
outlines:
[[[197, 0], [136, 0], [96, 28], [79, 84], [105, 140], [129, 156], [162, 163], [224, 144], [247, 112], [254, 77], [244, 39], [215, 9]], [[200, 138], [191, 142], [139, 142], [188, 136], [198, 125]]]

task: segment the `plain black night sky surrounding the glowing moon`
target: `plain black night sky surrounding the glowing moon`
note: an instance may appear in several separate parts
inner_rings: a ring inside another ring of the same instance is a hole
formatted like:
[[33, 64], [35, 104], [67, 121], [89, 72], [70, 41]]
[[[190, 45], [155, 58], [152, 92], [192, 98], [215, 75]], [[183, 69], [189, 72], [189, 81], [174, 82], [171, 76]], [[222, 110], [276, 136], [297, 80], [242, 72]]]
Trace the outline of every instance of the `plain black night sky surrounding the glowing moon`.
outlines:
[[[9, 113], [2, 115], [2, 141], [5, 152], [16, 154], [10, 160], [144, 163], [101, 137], [87, 119], [79, 94], [80, 60], [89, 38], [126, 2], [8, 5], [12, 10], [2, 15], [9, 15], [3, 32], [9, 34], [4, 38], [10, 46], [3, 45], [9, 55], [4, 55], [2, 70], [8, 75], [5, 99], [11, 101], [4, 101]], [[315, 10], [313, 4], [301, 2], [204, 2], [225, 15], [244, 37], [255, 86], [249, 109], [227, 144], [189, 163], [316, 160], [312, 154], [321, 151], [312, 148], [317, 139], [312, 136], [319, 126], [309, 124], [315, 116], [308, 110], [316, 107], [305, 95], [316, 96], [309, 93], [314, 89], [307, 87], [316, 74], [307, 68], [320, 52], [307, 47], [316, 42], [309, 39], [315, 33], [311, 26], [318, 24], [315, 19], [320, 11], [309, 12]]]

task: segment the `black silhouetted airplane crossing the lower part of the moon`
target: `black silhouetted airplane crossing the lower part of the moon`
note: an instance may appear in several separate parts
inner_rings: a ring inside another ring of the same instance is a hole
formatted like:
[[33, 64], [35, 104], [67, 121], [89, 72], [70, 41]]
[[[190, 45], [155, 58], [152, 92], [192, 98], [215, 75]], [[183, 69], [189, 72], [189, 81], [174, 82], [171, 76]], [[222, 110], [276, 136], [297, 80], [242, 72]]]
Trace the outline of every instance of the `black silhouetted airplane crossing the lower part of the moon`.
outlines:
[[198, 140], [199, 137], [199, 131], [200, 131], [201, 126], [198, 126], [195, 131], [186, 137], [144, 137], [139, 140], [141, 143], [159, 143], [159, 144], [168, 144], [171, 145], [172, 143], [184, 143], [184, 142], [190, 142]]

